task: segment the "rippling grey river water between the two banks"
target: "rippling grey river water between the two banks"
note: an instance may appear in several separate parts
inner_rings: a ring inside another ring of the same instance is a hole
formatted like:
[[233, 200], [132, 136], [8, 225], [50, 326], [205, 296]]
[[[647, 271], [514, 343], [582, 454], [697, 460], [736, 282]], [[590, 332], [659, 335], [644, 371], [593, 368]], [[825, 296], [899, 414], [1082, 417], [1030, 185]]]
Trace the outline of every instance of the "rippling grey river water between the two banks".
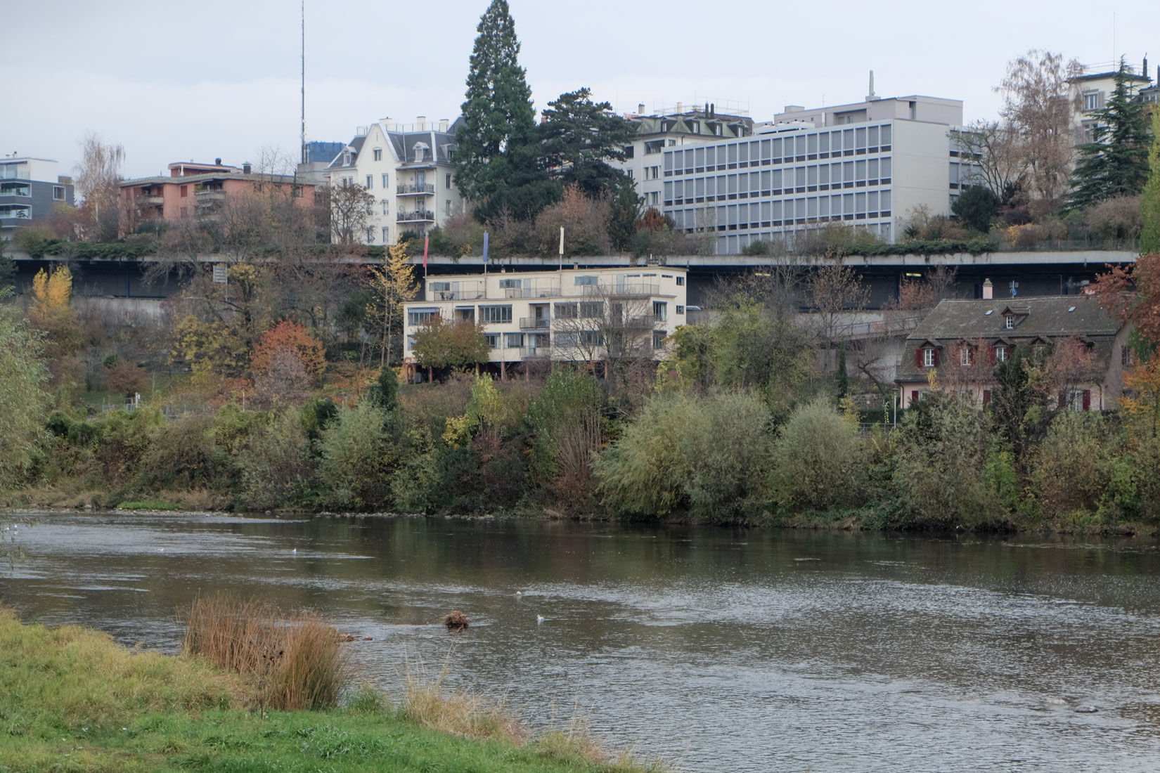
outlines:
[[313, 607], [370, 637], [346, 644], [368, 681], [447, 664], [535, 728], [583, 716], [680, 771], [1160, 770], [1151, 539], [15, 518], [0, 603], [26, 620], [174, 651], [200, 592]]

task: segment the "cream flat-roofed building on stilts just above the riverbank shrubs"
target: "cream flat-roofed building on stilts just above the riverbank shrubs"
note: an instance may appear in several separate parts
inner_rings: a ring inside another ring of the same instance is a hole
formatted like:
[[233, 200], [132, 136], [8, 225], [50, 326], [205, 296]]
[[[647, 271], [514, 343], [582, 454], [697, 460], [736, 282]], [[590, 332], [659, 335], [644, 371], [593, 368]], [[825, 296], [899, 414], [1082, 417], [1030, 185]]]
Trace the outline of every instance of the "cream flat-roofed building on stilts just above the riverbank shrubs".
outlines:
[[483, 326], [501, 374], [527, 362], [597, 363], [664, 356], [686, 318], [686, 270], [670, 267], [442, 275], [404, 304], [406, 351], [435, 318]]

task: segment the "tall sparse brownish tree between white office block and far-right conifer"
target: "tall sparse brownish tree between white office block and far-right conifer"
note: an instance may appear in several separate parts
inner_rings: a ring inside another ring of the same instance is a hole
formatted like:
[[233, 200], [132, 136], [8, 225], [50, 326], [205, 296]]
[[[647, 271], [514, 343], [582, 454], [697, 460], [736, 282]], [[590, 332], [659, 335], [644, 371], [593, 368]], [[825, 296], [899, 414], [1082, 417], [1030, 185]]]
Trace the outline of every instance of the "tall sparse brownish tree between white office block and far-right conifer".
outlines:
[[1032, 49], [1008, 63], [1007, 74], [995, 87], [1003, 100], [1001, 131], [1018, 137], [1017, 158], [1028, 190], [1045, 203], [1056, 202], [1067, 190], [1074, 145], [1072, 117], [1080, 108], [1071, 79], [1080, 72], [1074, 59]]

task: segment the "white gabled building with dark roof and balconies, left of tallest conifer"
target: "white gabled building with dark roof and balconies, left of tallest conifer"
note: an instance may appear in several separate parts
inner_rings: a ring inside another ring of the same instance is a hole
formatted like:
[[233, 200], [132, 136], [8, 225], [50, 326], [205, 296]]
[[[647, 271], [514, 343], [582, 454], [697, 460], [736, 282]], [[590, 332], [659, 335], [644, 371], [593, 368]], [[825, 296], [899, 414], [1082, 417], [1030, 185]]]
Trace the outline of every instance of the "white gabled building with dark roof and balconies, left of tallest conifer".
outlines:
[[422, 236], [464, 211], [455, 187], [457, 118], [414, 124], [390, 118], [360, 126], [354, 139], [331, 161], [331, 185], [358, 184], [375, 197], [362, 242], [394, 245], [400, 235]]

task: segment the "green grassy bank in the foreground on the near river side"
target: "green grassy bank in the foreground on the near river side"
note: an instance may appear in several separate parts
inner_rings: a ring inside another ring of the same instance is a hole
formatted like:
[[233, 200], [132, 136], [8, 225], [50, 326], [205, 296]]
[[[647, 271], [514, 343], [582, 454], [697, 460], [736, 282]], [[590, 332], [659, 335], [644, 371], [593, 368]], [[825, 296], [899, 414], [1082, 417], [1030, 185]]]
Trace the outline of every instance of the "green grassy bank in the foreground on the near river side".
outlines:
[[[0, 772], [646, 771], [580, 735], [532, 741], [494, 707], [413, 686], [341, 708], [273, 712], [255, 685], [197, 657], [118, 647], [0, 608]], [[438, 728], [438, 729], [436, 729]]]

